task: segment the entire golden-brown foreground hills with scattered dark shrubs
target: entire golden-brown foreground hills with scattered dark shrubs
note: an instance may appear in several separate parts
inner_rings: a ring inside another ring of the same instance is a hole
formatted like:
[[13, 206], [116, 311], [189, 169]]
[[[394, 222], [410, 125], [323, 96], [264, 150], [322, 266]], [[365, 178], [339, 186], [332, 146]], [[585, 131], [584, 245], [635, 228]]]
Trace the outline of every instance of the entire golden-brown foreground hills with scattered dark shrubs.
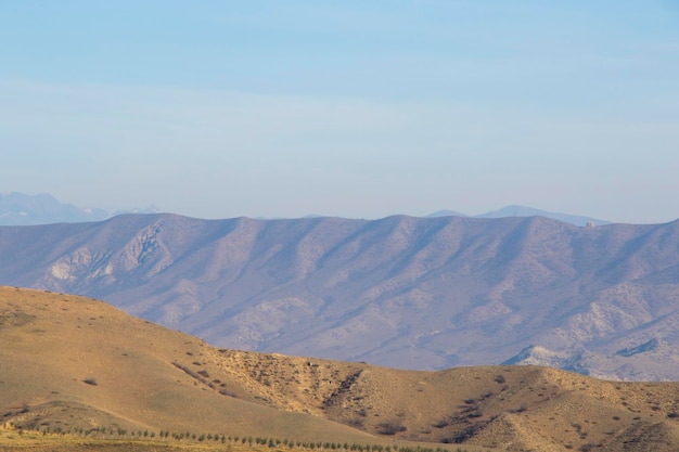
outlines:
[[679, 383], [536, 366], [403, 371], [217, 349], [102, 301], [0, 288], [0, 414], [33, 428], [679, 450]]

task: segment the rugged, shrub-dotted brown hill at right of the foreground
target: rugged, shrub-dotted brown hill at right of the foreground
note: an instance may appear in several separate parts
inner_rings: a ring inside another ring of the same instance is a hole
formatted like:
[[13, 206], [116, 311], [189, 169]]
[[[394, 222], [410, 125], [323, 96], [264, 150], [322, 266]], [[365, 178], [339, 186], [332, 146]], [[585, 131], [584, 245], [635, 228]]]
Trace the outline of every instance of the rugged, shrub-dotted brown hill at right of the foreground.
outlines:
[[[666, 450], [679, 445], [678, 383], [618, 383], [549, 367], [414, 372], [235, 350], [208, 365], [281, 408], [375, 435], [510, 450]], [[289, 385], [289, 382], [302, 385]], [[259, 383], [259, 384], [257, 384]], [[312, 388], [312, 390], [309, 390]], [[623, 447], [623, 444], [625, 444]], [[653, 444], [651, 448], [649, 444]]]

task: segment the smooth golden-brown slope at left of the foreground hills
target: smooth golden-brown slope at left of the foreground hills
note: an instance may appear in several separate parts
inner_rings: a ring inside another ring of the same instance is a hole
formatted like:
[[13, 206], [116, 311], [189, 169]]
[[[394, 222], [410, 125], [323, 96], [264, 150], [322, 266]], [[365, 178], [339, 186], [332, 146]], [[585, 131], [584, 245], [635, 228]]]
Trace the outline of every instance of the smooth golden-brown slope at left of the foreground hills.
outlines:
[[5, 419], [36, 418], [64, 428], [367, 437], [319, 417], [219, 393], [172, 364], [200, 360], [208, 347], [102, 301], [2, 288], [0, 344]]

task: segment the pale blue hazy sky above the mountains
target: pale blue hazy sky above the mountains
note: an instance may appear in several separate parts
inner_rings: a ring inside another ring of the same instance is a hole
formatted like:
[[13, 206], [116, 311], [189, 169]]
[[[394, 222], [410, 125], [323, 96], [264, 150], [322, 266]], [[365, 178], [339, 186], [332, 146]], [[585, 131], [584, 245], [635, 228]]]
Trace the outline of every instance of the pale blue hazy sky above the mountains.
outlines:
[[2, 1], [0, 192], [679, 217], [679, 1]]

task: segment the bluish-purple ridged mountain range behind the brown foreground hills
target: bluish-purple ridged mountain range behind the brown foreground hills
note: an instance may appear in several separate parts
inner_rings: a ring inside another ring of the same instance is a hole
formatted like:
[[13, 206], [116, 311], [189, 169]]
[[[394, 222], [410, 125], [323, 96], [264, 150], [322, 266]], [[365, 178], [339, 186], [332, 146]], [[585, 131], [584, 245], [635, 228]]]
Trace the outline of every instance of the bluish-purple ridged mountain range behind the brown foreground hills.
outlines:
[[679, 379], [679, 221], [197, 220], [0, 228], [0, 284], [104, 299], [238, 349], [405, 369]]

